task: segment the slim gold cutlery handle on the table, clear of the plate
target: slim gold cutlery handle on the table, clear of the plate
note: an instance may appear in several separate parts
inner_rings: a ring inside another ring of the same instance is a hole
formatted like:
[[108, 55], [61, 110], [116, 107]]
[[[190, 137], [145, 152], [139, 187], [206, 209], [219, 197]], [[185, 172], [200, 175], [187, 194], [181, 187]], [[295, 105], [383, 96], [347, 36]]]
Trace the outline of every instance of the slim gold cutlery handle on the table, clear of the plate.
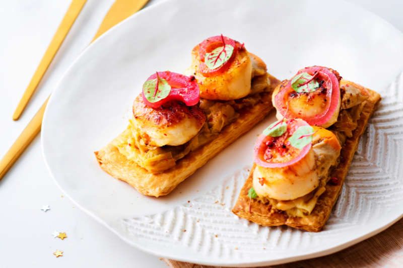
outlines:
[[61, 43], [63, 43], [64, 38], [69, 33], [70, 28], [75, 22], [77, 16], [79, 16], [86, 2], [87, 0], [73, 0], [68, 11], [64, 15], [64, 18], [61, 21], [59, 28], [54, 34], [53, 39], [45, 52], [45, 55], [43, 55], [43, 58], [38, 65], [38, 68], [36, 68], [34, 76], [32, 76], [32, 79], [29, 82], [27, 89], [25, 90], [25, 93], [21, 98], [21, 101], [18, 104], [16, 111], [14, 112], [13, 120], [18, 120], [21, 114], [24, 112], [25, 107], [27, 106], [29, 100], [31, 99], [36, 88], [38, 87], [38, 84], [41, 81], [43, 75], [45, 74], [47, 68], [49, 67], [50, 62], [52, 62], [54, 55], [56, 54], [57, 50], [59, 50]]

